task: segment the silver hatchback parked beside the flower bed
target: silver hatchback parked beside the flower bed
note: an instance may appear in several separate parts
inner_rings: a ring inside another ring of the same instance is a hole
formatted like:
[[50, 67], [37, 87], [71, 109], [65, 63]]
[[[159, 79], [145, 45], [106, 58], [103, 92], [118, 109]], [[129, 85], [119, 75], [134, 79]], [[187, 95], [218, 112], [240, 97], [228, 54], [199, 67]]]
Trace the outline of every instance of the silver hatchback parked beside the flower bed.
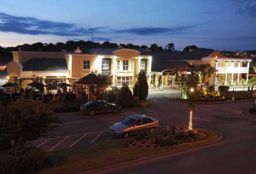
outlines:
[[117, 137], [129, 137], [142, 131], [153, 131], [159, 127], [159, 121], [156, 118], [145, 115], [133, 115], [126, 117], [122, 122], [109, 127], [110, 132]]

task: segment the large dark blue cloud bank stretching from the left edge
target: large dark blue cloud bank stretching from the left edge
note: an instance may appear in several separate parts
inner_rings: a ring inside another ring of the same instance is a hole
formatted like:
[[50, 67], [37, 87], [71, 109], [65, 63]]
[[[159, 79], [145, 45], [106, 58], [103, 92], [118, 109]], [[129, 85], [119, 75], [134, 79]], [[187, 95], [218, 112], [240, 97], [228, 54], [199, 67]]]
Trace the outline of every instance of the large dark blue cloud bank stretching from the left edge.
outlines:
[[[106, 28], [98, 27], [98, 28]], [[0, 12], [0, 31], [18, 34], [51, 34], [57, 36], [89, 35], [91, 31], [75, 24], [39, 20], [33, 17], [12, 16]]]

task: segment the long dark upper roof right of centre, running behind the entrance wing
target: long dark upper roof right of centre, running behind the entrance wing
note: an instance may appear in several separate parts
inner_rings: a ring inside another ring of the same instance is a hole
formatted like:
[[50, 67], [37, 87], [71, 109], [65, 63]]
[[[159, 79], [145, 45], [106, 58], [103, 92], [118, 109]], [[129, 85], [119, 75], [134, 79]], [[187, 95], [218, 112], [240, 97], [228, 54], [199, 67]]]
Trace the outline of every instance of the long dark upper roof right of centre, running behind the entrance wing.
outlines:
[[214, 50], [153, 52], [153, 60], [202, 60]]

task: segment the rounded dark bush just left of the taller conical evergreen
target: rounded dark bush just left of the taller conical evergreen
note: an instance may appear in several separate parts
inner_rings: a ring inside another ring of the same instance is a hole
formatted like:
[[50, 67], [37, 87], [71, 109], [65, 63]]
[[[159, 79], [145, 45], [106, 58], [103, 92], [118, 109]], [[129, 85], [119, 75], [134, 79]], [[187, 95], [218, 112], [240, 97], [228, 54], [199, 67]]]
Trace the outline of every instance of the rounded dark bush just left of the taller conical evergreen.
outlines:
[[132, 105], [132, 102], [132, 91], [126, 84], [124, 84], [124, 86], [121, 87], [121, 91], [116, 96], [116, 103], [122, 108], [128, 108]]

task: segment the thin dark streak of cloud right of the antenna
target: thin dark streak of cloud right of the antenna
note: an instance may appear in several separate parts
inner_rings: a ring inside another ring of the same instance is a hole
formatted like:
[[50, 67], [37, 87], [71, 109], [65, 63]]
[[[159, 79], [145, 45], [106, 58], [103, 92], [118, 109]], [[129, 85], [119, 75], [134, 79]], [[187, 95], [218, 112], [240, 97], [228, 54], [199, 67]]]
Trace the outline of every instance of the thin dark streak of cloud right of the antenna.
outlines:
[[149, 34], [180, 34], [181, 31], [193, 28], [197, 25], [189, 25], [189, 26], [178, 26], [172, 28], [164, 28], [164, 27], [139, 27], [139, 28], [128, 28], [121, 30], [113, 30], [115, 33], [132, 33], [139, 35], [149, 35]]

